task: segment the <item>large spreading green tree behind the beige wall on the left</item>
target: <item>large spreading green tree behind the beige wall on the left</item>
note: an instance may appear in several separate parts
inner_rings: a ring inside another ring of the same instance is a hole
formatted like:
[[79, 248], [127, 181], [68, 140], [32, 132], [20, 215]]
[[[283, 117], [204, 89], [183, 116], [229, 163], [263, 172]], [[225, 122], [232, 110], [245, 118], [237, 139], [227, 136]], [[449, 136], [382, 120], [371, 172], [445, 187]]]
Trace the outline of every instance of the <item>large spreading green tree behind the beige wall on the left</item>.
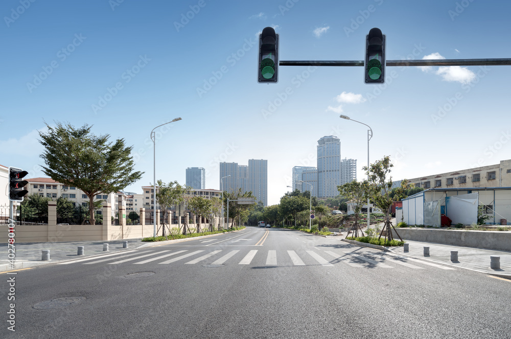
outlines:
[[92, 126], [75, 128], [56, 123], [48, 132], [39, 132], [44, 151], [40, 157], [46, 166], [44, 174], [58, 183], [77, 187], [89, 198], [89, 222], [95, 224], [94, 197], [124, 190], [135, 183], [143, 172], [133, 171], [132, 146], [124, 139], [108, 142], [110, 135], [94, 135]]

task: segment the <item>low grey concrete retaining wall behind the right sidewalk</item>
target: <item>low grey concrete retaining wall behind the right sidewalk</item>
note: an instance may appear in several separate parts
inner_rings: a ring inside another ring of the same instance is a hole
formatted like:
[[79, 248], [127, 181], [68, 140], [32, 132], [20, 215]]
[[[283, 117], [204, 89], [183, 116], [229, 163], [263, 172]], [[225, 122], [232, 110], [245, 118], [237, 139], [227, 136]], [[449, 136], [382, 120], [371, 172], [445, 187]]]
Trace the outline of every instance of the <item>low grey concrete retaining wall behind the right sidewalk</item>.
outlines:
[[[404, 240], [427, 241], [492, 250], [511, 251], [511, 232], [442, 229], [397, 229]], [[394, 237], [396, 233], [392, 230]]]

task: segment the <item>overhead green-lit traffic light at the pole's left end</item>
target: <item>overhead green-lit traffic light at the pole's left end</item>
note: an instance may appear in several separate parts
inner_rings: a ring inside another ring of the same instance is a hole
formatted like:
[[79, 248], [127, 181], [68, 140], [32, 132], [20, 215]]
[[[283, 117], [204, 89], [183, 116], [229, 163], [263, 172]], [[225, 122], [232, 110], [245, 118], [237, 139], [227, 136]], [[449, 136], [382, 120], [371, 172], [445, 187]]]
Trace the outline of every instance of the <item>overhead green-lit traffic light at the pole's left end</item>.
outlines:
[[258, 54], [259, 83], [278, 82], [278, 34], [271, 27], [266, 27], [259, 34]]

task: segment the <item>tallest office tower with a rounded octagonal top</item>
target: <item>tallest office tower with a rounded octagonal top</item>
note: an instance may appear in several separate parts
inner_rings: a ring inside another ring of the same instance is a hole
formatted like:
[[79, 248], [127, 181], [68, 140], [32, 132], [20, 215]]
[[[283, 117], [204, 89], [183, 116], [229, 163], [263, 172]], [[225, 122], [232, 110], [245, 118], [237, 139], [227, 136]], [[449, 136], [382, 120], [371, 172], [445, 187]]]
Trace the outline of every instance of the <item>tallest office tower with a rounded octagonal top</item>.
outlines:
[[317, 146], [318, 197], [339, 195], [337, 186], [341, 183], [341, 141], [329, 135], [318, 140]]

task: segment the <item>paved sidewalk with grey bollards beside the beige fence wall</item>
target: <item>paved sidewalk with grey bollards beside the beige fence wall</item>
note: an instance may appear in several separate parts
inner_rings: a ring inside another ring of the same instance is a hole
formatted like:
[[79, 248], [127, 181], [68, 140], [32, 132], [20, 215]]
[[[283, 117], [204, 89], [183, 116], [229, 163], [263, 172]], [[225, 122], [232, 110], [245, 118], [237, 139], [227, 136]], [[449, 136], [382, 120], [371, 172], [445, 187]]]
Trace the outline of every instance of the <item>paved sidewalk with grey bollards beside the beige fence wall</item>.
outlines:
[[[74, 241], [74, 242], [42, 242], [42, 243], [15, 243], [14, 268], [8, 261], [8, 245], [0, 244], [0, 272], [7, 270], [34, 267], [53, 262], [83, 258], [103, 254], [103, 244], [108, 244], [110, 253], [128, 251], [143, 246], [140, 239], [111, 240], [111, 241]], [[123, 248], [123, 241], [128, 241], [128, 248]], [[83, 246], [83, 256], [78, 256], [78, 246]], [[50, 250], [50, 260], [42, 261], [42, 250]]]

